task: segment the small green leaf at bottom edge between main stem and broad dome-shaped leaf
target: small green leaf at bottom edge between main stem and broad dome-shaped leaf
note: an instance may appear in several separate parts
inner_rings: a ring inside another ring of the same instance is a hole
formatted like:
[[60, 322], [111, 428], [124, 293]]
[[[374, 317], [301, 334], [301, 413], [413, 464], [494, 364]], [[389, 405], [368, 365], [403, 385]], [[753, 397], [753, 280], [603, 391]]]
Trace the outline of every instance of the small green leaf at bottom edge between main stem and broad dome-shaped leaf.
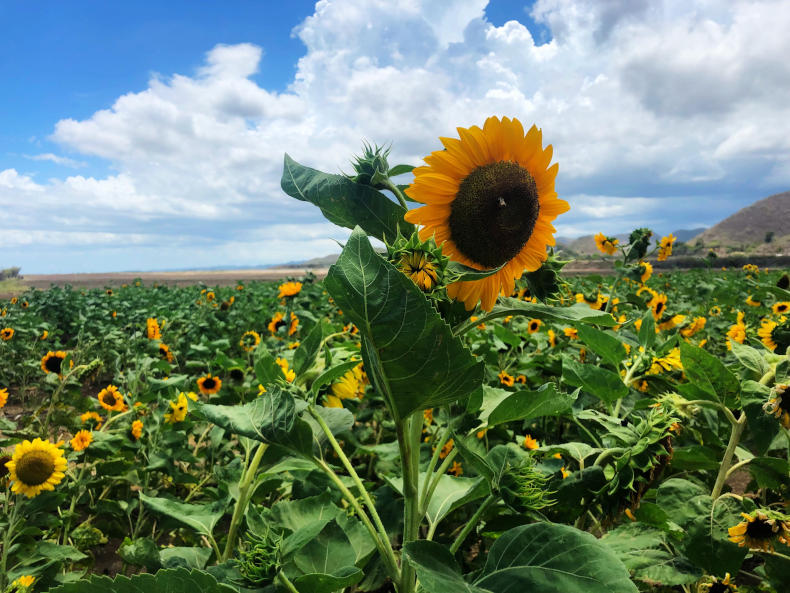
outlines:
[[450, 551], [436, 542], [417, 540], [403, 547], [403, 555], [420, 579], [425, 593], [490, 593], [470, 585]]

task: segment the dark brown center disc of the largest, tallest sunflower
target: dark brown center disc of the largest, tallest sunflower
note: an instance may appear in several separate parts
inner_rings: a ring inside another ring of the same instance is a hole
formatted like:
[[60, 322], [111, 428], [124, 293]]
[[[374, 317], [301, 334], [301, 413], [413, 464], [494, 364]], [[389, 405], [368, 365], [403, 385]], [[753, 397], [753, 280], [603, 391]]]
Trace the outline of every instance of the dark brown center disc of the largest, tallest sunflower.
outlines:
[[510, 161], [483, 165], [461, 182], [448, 224], [466, 257], [487, 268], [513, 259], [532, 236], [540, 212], [529, 172]]

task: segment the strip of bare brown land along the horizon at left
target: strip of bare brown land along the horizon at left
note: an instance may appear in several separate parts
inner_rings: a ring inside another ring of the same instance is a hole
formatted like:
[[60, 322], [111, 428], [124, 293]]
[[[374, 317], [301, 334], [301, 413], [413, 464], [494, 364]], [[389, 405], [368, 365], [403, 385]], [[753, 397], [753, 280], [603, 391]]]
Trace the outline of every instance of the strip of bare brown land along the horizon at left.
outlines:
[[[188, 272], [113, 272], [106, 274], [26, 274], [23, 282], [29, 288], [46, 290], [51, 286], [70, 284], [75, 288], [118, 287], [131, 284], [137, 279], [145, 286], [166, 284], [169, 286], [235, 286], [238, 282], [254, 280], [282, 280], [288, 277], [303, 276], [312, 271], [318, 278], [326, 276], [326, 268], [267, 268], [262, 270], [190, 270]], [[0, 294], [9, 298], [13, 294]]]

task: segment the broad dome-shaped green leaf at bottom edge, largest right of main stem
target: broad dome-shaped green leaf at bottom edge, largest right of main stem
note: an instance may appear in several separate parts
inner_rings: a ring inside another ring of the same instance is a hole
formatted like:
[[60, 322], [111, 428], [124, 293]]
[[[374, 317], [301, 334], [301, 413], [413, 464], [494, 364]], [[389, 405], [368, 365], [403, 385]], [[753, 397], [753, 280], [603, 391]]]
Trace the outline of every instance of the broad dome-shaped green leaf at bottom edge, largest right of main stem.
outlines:
[[594, 536], [567, 525], [533, 523], [494, 542], [478, 587], [497, 593], [636, 593], [628, 570]]

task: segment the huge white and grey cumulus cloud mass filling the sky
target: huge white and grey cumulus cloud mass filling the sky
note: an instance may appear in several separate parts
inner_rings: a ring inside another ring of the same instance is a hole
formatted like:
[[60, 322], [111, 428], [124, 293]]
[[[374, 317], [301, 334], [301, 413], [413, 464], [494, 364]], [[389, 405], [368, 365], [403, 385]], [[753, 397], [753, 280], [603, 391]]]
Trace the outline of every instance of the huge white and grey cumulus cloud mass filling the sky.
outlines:
[[[57, 221], [104, 237], [96, 258], [103, 245], [117, 256], [118, 235], [156, 237], [158, 251], [135, 256], [151, 268], [162, 253], [169, 268], [323, 255], [337, 235], [280, 190], [284, 152], [348, 170], [367, 139], [417, 164], [439, 136], [491, 114], [535, 122], [554, 145], [573, 206], [561, 232], [713, 224], [790, 184], [786, 2], [538, 0], [531, 16], [548, 43], [526, 19], [494, 26], [486, 5], [321, 0], [294, 29], [305, 49], [285, 91], [252, 80], [265, 45], [209, 48], [194, 72], [155, 75], [109, 109], [54, 125], [54, 142], [104, 159], [109, 174], [43, 182], [8, 169], [0, 203], [24, 204], [13, 230], [44, 246], [40, 231]], [[68, 271], [58, 249], [49, 261]]]

